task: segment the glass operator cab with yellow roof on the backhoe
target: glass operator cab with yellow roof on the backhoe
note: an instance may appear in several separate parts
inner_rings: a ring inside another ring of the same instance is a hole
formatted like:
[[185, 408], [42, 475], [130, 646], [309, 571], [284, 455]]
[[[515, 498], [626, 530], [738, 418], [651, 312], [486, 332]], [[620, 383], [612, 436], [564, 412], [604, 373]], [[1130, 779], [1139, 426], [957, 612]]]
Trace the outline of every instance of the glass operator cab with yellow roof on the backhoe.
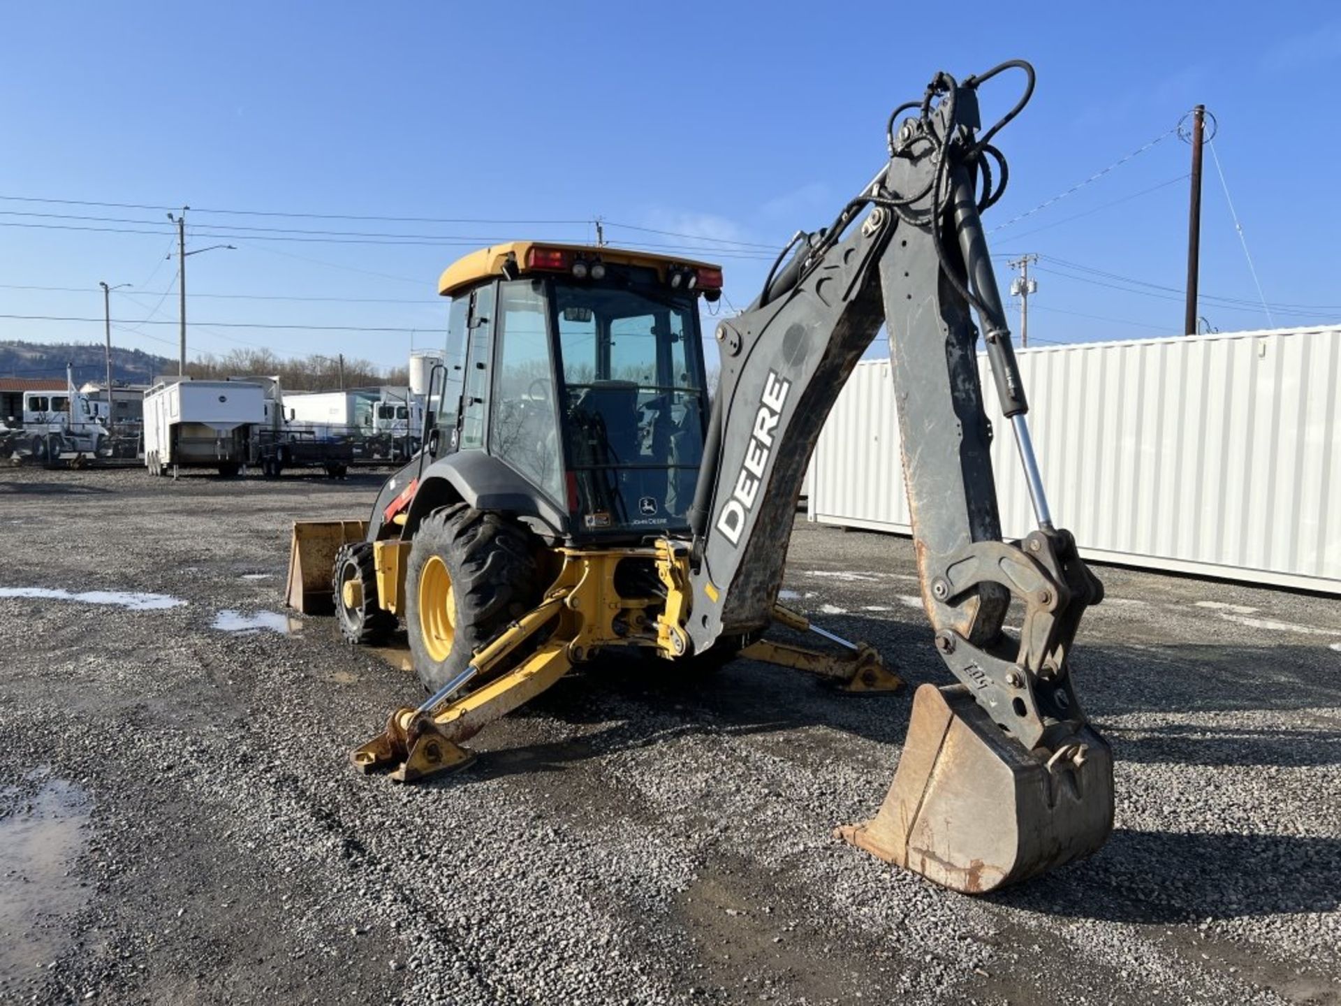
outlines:
[[518, 241], [465, 256], [440, 292], [434, 457], [502, 460], [569, 541], [688, 528], [708, 421], [697, 299], [721, 295], [720, 267]]

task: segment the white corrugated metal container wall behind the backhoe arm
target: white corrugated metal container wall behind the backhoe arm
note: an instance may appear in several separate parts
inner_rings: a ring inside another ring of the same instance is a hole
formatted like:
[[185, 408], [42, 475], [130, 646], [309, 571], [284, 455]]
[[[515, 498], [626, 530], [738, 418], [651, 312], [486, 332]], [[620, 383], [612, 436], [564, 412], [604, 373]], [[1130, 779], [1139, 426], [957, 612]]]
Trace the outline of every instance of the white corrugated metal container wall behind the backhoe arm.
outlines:
[[[1054, 520], [1094, 559], [1341, 593], [1341, 327], [1018, 353]], [[1002, 530], [1033, 527], [1010, 427]], [[888, 361], [857, 366], [811, 460], [810, 518], [908, 533]]]

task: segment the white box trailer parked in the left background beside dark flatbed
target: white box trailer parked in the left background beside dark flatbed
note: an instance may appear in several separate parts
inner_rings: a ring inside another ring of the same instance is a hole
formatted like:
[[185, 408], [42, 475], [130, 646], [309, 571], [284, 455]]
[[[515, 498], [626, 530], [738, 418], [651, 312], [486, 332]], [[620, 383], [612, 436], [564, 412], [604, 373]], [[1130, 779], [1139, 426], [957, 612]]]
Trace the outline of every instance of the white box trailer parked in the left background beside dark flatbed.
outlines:
[[173, 381], [145, 392], [145, 465], [217, 468], [245, 464], [252, 428], [266, 421], [266, 389], [245, 381]]

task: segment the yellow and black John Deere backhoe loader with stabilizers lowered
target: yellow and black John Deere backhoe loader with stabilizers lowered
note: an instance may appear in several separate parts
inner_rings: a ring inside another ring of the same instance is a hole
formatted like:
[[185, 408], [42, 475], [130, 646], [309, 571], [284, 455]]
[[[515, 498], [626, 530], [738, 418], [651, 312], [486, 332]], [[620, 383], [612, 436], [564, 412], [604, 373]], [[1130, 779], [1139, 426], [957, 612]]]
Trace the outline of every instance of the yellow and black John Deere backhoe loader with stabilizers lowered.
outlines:
[[[978, 90], [1006, 70], [1026, 89], [983, 131]], [[295, 527], [291, 602], [333, 604], [353, 642], [404, 624], [430, 692], [355, 766], [402, 781], [461, 766], [463, 740], [598, 651], [687, 672], [747, 656], [897, 688], [868, 647], [821, 632], [843, 651], [829, 656], [763, 637], [811, 628], [776, 602], [797, 498], [884, 323], [923, 602], [957, 684], [917, 689], [884, 805], [838, 833], [964, 892], [1098, 849], [1112, 757], [1069, 657], [1102, 588], [1053, 524], [980, 221], [1006, 185], [992, 139], [1033, 89], [1016, 60], [937, 74], [896, 109], [870, 184], [717, 323], [711, 409], [697, 298], [720, 296], [716, 266], [518, 241], [449, 267], [449, 358], [464, 362], [434, 373], [424, 449], [369, 520]], [[1019, 542], [1000, 534], [979, 337], [1037, 516]], [[1002, 630], [1012, 601], [1018, 637]]]

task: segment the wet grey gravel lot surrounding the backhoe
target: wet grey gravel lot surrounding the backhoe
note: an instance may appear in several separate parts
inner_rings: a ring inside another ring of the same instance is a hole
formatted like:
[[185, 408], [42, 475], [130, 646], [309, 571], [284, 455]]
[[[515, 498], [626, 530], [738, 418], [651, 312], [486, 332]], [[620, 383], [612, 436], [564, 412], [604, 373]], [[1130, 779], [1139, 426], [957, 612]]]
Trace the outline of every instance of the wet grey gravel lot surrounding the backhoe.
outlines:
[[[1341, 1003], [1336, 600], [1100, 569], [1117, 830], [970, 899], [830, 837], [908, 693], [609, 664], [453, 777], [353, 773], [417, 687], [278, 616], [288, 523], [380, 479], [0, 472], [3, 586], [46, 594], [0, 597], [0, 1001]], [[802, 523], [787, 590], [948, 679], [907, 541]]]

